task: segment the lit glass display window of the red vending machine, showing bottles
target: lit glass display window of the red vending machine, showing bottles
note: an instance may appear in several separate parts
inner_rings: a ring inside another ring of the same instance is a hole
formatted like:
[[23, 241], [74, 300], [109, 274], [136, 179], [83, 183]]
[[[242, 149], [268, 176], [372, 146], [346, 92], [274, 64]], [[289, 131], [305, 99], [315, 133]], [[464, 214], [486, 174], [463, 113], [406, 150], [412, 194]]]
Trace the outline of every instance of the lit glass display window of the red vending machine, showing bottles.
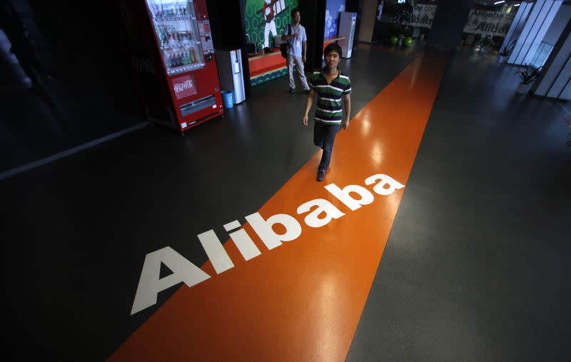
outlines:
[[204, 56], [193, 1], [146, 1], [166, 73], [171, 76], [203, 68]]

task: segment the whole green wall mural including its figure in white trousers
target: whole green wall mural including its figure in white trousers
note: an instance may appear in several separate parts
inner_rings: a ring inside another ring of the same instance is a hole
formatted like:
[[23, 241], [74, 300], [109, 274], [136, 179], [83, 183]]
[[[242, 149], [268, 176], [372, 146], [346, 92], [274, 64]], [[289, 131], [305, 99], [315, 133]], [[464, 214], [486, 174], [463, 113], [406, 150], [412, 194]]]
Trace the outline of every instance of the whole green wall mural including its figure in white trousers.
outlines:
[[291, 22], [290, 13], [297, 6], [298, 0], [247, 0], [244, 22], [250, 41], [263, 49], [272, 49], [273, 37], [283, 34]]

